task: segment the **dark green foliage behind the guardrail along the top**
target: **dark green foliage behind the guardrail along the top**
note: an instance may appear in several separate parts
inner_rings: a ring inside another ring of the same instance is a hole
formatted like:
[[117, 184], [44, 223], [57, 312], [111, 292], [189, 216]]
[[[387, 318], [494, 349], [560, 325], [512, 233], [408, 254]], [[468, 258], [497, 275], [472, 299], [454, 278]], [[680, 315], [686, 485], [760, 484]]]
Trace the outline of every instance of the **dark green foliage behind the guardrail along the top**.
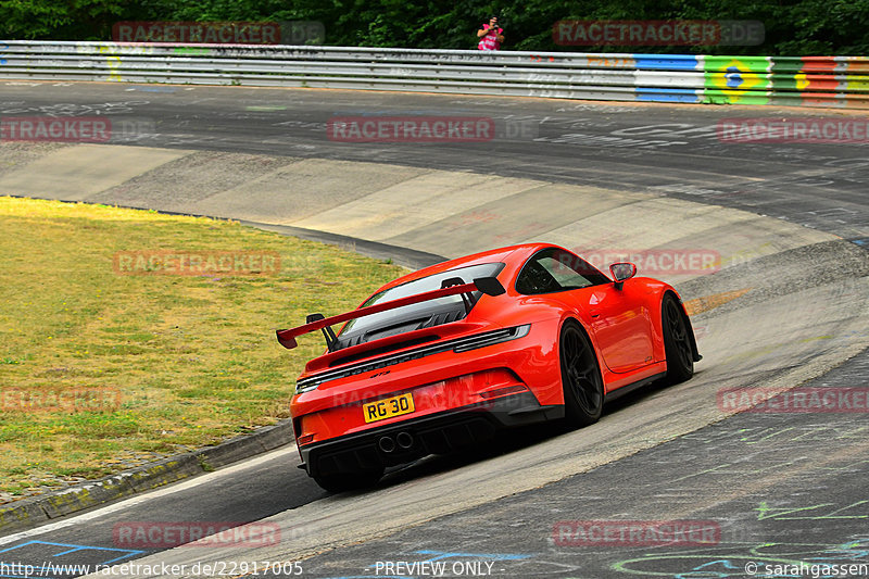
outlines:
[[756, 20], [757, 47], [648, 47], [707, 54], [865, 54], [869, 0], [3, 0], [0, 37], [109, 40], [118, 21], [319, 21], [333, 46], [473, 49], [491, 14], [505, 50], [634, 52], [635, 47], [561, 47], [559, 20]]

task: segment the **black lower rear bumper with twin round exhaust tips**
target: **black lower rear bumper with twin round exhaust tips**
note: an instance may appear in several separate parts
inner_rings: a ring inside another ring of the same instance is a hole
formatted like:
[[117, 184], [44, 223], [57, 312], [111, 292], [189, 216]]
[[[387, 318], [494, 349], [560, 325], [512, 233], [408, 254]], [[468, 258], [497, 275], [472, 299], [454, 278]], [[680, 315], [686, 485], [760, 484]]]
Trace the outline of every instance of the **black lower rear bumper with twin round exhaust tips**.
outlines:
[[312, 477], [377, 470], [484, 442], [501, 428], [563, 416], [563, 405], [541, 406], [522, 392], [305, 444], [299, 452]]

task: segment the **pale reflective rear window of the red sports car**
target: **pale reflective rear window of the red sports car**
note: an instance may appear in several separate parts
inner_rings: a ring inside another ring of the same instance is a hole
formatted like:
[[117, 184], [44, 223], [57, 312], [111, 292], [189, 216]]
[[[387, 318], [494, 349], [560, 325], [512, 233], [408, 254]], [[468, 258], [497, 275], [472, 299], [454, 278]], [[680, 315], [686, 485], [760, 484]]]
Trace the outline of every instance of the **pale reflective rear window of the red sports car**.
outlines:
[[[450, 269], [375, 293], [362, 306], [440, 289], [441, 284], [452, 277], [459, 277], [466, 284], [479, 277], [494, 277], [503, 268], [504, 264], [496, 262]], [[474, 292], [474, 294], [479, 298], [480, 292]], [[350, 320], [339, 335], [338, 345], [339, 348], [347, 348], [348, 345], [355, 345], [356, 343], [386, 338], [395, 333], [436, 326], [446, 322], [455, 322], [464, 318], [465, 315], [461, 295], [448, 295], [446, 298], [405, 305], [396, 310], [389, 310]]]

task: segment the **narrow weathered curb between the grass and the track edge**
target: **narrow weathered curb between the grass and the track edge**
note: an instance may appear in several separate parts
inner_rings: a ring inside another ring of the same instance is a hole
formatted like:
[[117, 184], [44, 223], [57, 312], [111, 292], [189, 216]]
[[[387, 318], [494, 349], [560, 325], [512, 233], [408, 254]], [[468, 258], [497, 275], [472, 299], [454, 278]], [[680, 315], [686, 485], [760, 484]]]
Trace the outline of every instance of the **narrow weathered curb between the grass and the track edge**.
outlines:
[[25, 530], [38, 524], [100, 506], [194, 475], [210, 473], [292, 442], [292, 421], [256, 429], [215, 446], [169, 456], [154, 463], [81, 482], [66, 489], [0, 505], [0, 532]]

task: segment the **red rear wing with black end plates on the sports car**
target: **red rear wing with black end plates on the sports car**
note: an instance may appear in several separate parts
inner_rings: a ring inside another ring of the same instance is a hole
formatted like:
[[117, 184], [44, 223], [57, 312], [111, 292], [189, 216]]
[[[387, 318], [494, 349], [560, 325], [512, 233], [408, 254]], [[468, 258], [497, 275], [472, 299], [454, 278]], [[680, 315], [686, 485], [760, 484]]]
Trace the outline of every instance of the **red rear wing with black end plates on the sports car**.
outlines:
[[331, 352], [333, 351], [333, 345], [337, 340], [331, 326], [336, 324], [356, 319], [357, 317], [369, 316], [371, 314], [379, 314], [380, 312], [395, 310], [396, 307], [402, 307], [414, 303], [428, 302], [430, 300], [437, 300], [438, 298], [457, 294], [462, 294], [462, 300], [465, 302], [465, 307], [470, 310], [470, 307], [474, 305], [474, 298], [471, 295], [471, 292], [474, 291], [480, 291], [487, 295], [501, 295], [506, 290], [504, 290], [504, 286], [502, 286], [495, 277], [480, 277], [470, 284], [465, 284], [462, 278], [453, 277], [450, 279], [444, 279], [441, 284], [441, 289], [426, 291], [415, 295], [407, 295], [406, 298], [399, 298], [398, 300], [390, 300], [388, 302], [377, 303], [366, 307], [360, 307], [358, 310], [353, 310], [352, 312], [347, 312], [337, 316], [324, 317], [323, 314], [310, 314], [306, 319], [307, 323], [304, 326], [286, 330], [277, 330], [276, 333], [280, 345], [287, 349], [293, 349], [298, 345], [295, 338], [299, 336], [310, 333], [312, 331], [323, 330], [323, 335], [326, 338], [326, 345]]

